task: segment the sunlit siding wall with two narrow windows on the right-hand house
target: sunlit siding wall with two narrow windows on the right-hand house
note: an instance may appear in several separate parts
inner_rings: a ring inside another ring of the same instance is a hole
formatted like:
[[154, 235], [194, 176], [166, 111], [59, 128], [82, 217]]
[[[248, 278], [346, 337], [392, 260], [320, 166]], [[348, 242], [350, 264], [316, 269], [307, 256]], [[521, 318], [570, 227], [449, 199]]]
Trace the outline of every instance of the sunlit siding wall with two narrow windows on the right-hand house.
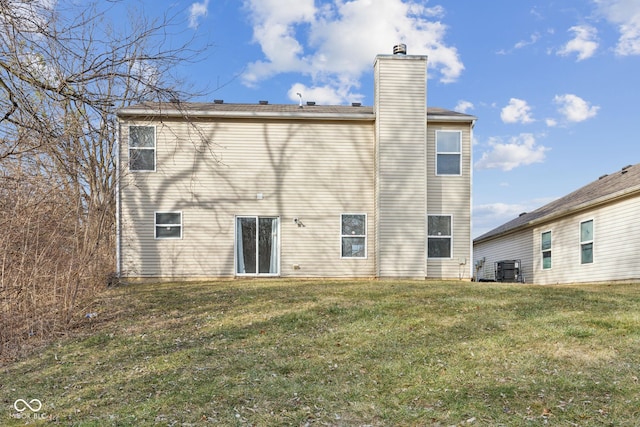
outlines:
[[[552, 231], [551, 269], [542, 269], [539, 251], [535, 256], [535, 283], [556, 284], [601, 282], [640, 278], [638, 227], [640, 197], [583, 211], [534, 228], [534, 247], [540, 233]], [[593, 220], [593, 263], [580, 262], [580, 222]]]

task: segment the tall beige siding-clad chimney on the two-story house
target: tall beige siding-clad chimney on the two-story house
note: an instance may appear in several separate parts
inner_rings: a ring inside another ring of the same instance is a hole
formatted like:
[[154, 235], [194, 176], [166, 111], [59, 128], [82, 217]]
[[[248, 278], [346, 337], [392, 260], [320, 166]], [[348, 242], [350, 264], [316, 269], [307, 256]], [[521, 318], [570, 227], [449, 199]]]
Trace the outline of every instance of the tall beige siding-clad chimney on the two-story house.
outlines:
[[426, 276], [426, 64], [381, 55], [374, 66], [381, 277]]

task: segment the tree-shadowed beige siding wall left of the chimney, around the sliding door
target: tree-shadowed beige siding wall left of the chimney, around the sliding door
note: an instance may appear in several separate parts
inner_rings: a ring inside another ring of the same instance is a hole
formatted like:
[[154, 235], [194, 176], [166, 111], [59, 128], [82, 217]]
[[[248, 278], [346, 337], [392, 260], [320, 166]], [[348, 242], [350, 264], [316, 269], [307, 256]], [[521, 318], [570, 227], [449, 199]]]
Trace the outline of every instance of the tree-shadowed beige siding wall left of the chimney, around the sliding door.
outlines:
[[[280, 218], [282, 276], [375, 275], [373, 130], [369, 121], [212, 119], [199, 124], [200, 142], [190, 125], [165, 120], [157, 172], [135, 173], [122, 123], [123, 274], [233, 276], [235, 217], [257, 215]], [[177, 210], [182, 239], [154, 239], [154, 212]], [[340, 258], [341, 213], [367, 214], [366, 259]]]

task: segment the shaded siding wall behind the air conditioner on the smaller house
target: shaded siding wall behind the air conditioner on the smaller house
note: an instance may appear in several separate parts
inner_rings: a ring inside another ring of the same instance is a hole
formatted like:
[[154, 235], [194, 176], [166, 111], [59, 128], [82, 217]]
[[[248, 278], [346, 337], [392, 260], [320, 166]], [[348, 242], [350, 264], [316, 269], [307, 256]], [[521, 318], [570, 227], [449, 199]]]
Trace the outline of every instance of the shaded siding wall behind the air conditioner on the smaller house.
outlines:
[[[534, 268], [537, 268], [534, 267], [534, 258], [538, 256], [535, 253], [534, 240], [531, 230], [527, 229], [474, 245], [473, 265], [476, 280], [495, 280], [496, 262], [519, 259], [520, 274], [527, 283], [534, 283]], [[539, 237], [537, 244], [539, 248]]]

